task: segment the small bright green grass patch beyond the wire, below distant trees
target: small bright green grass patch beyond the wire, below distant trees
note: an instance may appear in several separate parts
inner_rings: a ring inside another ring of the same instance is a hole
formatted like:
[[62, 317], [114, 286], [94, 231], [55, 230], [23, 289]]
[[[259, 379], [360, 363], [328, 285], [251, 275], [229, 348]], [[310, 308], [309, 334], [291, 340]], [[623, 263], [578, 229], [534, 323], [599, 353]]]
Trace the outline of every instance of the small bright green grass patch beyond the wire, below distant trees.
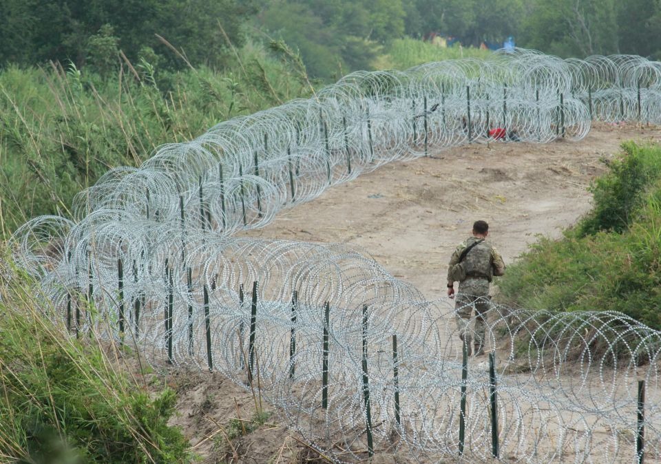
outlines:
[[453, 45], [441, 48], [432, 43], [417, 39], [395, 39], [380, 56], [374, 65], [379, 70], [396, 69], [407, 70], [409, 67], [430, 63], [431, 61], [445, 61], [461, 58], [487, 59], [492, 55], [490, 50], [480, 50], [473, 47]]

